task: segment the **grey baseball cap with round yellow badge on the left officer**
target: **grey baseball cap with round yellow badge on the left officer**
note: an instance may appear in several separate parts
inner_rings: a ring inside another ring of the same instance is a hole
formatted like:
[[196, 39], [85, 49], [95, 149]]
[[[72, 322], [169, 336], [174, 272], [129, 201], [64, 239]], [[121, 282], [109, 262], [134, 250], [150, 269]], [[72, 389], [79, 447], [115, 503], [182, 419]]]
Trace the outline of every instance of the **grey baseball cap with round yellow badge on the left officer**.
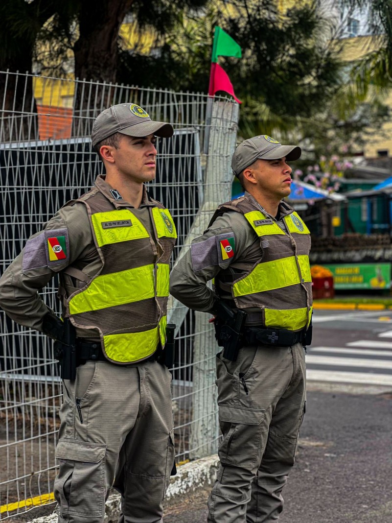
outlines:
[[91, 132], [93, 147], [116, 132], [134, 137], [155, 134], [170, 138], [174, 130], [170, 123], [154, 122], [139, 105], [119, 104], [105, 109], [95, 119]]

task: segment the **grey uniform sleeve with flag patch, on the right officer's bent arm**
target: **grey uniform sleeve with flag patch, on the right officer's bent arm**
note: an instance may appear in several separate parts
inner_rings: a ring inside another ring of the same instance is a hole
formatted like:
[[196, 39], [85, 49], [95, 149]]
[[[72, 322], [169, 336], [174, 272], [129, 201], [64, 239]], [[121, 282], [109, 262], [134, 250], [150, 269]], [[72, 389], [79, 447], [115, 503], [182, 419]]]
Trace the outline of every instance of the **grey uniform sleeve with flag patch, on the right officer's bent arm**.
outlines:
[[171, 271], [170, 294], [190, 309], [211, 312], [214, 294], [207, 282], [240, 258], [252, 241], [246, 218], [235, 211], [225, 212], [192, 242]]

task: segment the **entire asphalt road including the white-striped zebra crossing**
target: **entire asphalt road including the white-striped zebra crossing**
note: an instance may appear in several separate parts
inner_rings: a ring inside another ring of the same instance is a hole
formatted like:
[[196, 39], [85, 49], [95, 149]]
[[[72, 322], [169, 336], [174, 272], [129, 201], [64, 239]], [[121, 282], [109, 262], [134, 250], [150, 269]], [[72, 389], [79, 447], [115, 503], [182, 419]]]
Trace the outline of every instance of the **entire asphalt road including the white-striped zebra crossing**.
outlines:
[[[316, 311], [314, 320], [307, 365], [319, 379], [308, 381], [279, 521], [390, 523], [392, 311]], [[165, 523], [205, 523], [209, 491], [168, 507]]]

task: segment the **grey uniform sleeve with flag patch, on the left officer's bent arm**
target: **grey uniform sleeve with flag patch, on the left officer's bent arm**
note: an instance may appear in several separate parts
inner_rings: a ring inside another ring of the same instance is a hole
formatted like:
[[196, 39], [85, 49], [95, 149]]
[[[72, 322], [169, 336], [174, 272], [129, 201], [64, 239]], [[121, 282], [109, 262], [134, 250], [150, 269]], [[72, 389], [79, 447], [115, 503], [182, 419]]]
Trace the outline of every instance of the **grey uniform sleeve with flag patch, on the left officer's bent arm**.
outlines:
[[53, 311], [38, 291], [56, 272], [72, 264], [91, 243], [87, 209], [74, 204], [60, 209], [33, 234], [0, 278], [0, 306], [15, 322], [42, 331], [42, 319]]

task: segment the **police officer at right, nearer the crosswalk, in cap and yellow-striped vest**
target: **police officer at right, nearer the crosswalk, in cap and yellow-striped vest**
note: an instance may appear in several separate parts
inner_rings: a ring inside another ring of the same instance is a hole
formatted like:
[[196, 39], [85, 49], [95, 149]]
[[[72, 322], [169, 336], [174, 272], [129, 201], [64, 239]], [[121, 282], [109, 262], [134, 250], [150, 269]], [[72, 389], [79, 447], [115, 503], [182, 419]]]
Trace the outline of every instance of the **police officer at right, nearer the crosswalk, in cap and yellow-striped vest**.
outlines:
[[224, 348], [216, 357], [223, 440], [210, 522], [276, 521], [294, 464], [312, 315], [310, 236], [282, 198], [299, 156], [299, 147], [267, 135], [238, 145], [232, 168], [245, 196], [218, 207], [170, 276], [177, 299], [216, 316]]

